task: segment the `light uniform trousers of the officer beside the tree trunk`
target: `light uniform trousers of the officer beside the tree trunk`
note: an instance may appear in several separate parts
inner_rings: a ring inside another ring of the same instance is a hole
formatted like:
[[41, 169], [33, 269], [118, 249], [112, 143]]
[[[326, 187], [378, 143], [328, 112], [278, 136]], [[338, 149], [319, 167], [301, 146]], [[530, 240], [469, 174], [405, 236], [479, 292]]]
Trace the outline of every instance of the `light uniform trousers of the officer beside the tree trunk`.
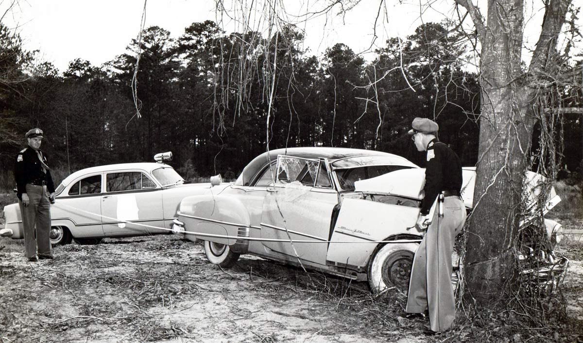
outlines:
[[431, 225], [415, 252], [406, 311], [429, 309], [431, 330], [445, 331], [455, 320], [454, 289], [451, 284], [451, 253], [455, 236], [466, 220], [463, 201], [446, 197], [444, 217], [435, 211]]

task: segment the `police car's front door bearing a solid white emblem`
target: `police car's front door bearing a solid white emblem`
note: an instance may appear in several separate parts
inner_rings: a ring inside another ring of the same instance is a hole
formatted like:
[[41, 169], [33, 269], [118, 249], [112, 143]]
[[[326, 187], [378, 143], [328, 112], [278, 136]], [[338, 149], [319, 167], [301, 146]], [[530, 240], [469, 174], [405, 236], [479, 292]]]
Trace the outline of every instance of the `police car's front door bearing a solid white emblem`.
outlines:
[[142, 171], [106, 173], [106, 189], [101, 196], [104, 234], [124, 236], [164, 232], [161, 229], [164, 227], [161, 192], [161, 188]]

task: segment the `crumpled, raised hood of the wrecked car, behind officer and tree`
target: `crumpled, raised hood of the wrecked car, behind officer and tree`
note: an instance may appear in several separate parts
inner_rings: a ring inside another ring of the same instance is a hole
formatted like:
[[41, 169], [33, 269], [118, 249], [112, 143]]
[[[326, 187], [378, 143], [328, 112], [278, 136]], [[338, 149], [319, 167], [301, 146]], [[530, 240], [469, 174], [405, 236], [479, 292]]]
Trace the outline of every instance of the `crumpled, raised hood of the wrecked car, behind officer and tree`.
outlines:
[[[473, 208], [473, 193], [476, 182], [476, 168], [462, 168], [462, 200], [467, 208]], [[529, 207], [536, 204], [536, 199], [542, 190], [541, 184], [545, 177], [529, 171], [527, 174], [526, 195]], [[383, 193], [400, 195], [414, 199], [423, 199], [425, 184], [425, 168], [400, 169], [375, 178], [354, 182], [354, 190], [363, 193]], [[544, 212], [546, 213], [561, 201], [556, 191], [550, 189]]]

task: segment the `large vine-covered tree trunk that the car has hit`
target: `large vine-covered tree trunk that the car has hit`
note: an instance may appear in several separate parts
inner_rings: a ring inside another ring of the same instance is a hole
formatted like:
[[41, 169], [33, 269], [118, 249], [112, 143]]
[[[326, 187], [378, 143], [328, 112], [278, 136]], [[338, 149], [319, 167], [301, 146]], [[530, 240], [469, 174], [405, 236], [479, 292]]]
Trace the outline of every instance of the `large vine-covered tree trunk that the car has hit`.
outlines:
[[[470, 2], [459, 0], [468, 10]], [[551, 0], [529, 72], [546, 69], [570, 0]], [[468, 229], [466, 295], [481, 305], [507, 295], [517, 275], [513, 242], [535, 117], [537, 89], [523, 77], [524, 0], [489, 0], [487, 27], [473, 19], [482, 43], [482, 109], [474, 210]], [[539, 54], [538, 54], [539, 53]], [[542, 54], [542, 55], [541, 55]], [[542, 58], [541, 58], [542, 57]]]

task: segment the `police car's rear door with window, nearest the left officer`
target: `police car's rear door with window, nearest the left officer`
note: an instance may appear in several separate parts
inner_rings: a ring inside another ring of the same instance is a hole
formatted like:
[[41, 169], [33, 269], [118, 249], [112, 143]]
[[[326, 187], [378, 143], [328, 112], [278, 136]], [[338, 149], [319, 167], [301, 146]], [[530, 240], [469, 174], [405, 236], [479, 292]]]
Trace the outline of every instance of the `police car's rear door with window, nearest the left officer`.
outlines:
[[[73, 181], [51, 206], [52, 225], [65, 225], [75, 236], [102, 236], [101, 191], [103, 175], [85, 175]], [[71, 226], [70, 224], [73, 224]]]

